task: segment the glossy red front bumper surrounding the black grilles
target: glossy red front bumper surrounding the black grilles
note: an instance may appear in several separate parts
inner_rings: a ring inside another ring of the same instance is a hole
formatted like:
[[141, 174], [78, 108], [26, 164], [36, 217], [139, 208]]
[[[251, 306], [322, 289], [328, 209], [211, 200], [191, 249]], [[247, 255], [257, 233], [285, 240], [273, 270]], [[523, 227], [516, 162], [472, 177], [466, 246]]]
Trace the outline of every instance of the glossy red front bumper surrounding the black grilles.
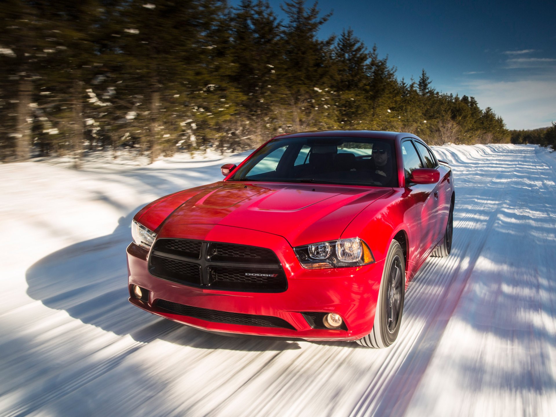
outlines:
[[[190, 236], [172, 236], [187, 239]], [[267, 247], [278, 256], [287, 279], [284, 292], [238, 292], [201, 289], [152, 276], [147, 252], [135, 244], [127, 247], [130, 302], [143, 310], [198, 329], [305, 340], [358, 340], [373, 328], [384, 260], [360, 267], [306, 270], [289, 243], [280, 236], [230, 226], [212, 227], [205, 240]], [[149, 291], [148, 299], [133, 296], [132, 285]], [[292, 328], [229, 324], [175, 314], [157, 305], [158, 300], [231, 313], [279, 317]], [[314, 329], [302, 312], [335, 312], [347, 330]], [[295, 330], [294, 330], [295, 329]]]

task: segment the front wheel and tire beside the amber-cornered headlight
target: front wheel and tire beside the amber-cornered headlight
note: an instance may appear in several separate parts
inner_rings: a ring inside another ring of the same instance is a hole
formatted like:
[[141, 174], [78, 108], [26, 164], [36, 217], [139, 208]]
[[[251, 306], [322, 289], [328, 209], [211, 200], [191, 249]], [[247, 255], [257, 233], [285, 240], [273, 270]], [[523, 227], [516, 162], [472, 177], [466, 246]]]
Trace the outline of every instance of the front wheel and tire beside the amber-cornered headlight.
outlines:
[[404, 310], [405, 262], [400, 244], [393, 240], [386, 255], [384, 271], [380, 280], [376, 302], [373, 330], [356, 340], [366, 347], [388, 347], [394, 343], [400, 331], [401, 315]]

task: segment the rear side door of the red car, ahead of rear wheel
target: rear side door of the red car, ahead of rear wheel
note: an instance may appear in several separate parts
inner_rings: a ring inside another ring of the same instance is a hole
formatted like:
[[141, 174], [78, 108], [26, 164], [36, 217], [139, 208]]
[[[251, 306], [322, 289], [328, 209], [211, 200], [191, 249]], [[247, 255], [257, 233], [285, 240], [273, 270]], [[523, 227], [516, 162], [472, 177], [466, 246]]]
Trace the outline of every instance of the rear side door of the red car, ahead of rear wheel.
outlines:
[[449, 190], [449, 172], [448, 170], [441, 170], [433, 151], [424, 143], [415, 140], [415, 147], [421, 155], [426, 168], [434, 168], [440, 171], [440, 180], [435, 185], [433, 196], [435, 198], [434, 206], [431, 205], [430, 216], [434, 219], [431, 222], [434, 229], [433, 243], [436, 244], [443, 236], [446, 229], [446, 222], [448, 221], [448, 213], [450, 209], [450, 190]]

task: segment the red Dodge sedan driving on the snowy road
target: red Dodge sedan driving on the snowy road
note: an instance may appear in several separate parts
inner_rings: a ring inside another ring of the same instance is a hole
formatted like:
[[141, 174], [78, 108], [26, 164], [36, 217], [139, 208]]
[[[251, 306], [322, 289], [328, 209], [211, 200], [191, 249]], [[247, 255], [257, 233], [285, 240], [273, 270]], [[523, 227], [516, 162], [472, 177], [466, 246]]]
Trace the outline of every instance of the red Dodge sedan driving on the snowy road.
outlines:
[[391, 345], [405, 286], [450, 253], [454, 183], [410, 133], [282, 135], [132, 222], [130, 301], [221, 333]]

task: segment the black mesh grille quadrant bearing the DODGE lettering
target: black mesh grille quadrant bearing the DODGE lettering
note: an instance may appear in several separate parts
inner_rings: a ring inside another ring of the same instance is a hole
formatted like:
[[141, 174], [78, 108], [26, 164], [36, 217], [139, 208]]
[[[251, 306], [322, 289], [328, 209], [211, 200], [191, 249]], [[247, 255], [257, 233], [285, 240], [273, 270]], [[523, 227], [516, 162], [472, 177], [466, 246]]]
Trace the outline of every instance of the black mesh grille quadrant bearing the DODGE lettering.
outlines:
[[209, 285], [245, 289], [256, 286], [263, 290], [286, 290], [286, 279], [282, 271], [234, 268], [227, 266], [209, 267]]

